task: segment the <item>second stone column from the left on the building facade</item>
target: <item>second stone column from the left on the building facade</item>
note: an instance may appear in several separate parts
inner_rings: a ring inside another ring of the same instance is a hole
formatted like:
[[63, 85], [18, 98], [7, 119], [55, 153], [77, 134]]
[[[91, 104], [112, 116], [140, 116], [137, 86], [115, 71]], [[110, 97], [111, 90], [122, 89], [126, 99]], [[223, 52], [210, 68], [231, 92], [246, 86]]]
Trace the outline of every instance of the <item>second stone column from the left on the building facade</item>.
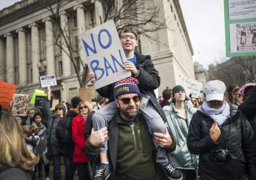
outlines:
[[20, 28], [16, 31], [19, 38], [19, 83], [24, 85], [27, 82], [27, 49], [26, 49], [26, 33]]

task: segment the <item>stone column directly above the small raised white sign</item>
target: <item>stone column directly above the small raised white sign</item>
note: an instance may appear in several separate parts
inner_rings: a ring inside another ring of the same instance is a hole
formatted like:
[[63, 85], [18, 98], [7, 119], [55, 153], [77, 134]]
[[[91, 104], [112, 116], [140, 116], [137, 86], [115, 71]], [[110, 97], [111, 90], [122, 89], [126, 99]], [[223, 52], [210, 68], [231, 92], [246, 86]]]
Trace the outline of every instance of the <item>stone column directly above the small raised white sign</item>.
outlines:
[[46, 61], [47, 61], [47, 75], [55, 74], [54, 61], [54, 40], [52, 20], [47, 17], [43, 20], [45, 22], [45, 46], [46, 46]]

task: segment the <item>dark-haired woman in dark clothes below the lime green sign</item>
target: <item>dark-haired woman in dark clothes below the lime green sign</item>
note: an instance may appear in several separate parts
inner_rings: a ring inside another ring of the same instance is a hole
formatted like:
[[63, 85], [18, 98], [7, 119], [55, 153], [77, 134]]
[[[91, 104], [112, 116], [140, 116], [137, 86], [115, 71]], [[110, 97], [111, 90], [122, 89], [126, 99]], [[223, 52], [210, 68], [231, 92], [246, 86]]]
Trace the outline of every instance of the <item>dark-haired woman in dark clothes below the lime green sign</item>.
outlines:
[[40, 140], [38, 142], [38, 145], [35, 147], [36, 149], [36, 154], [40, 157], [40, 161], [38, 162], [38, 165], [35, 167], [35, 171], [33, 173], [33, 178], [35, 179], [36, 177], [36, 170], [38, 170], [38, 177], [41, 178], [43, 177], [42, 174], [42, 165], [44, 163], [44, 170], [45, 170], [45, 177], [47, 180], [49, 180], [49, 161], [47, 161], [46, 158], [46, 152], [47, 152], [47, 138], [46, 138], [46, 127], [44, 125], [45, 120], [44, 120], [44, 115], [42, 112], [36, 112], [35, 113], [35, 121], [32, 123], [32, 125], [35, 125], [38, 127], [38, 132], [36, 135], [40, 137]]

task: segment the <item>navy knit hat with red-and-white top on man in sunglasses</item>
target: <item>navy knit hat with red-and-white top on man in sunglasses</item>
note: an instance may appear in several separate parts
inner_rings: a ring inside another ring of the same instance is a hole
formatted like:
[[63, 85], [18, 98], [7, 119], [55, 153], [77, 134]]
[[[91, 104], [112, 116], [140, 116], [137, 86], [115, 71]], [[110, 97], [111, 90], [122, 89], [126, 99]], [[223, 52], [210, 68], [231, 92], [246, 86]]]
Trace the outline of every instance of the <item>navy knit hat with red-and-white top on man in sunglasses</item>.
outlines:
[[140, 89], [138, 87], [139, 81], [134, 77], [127, 77], [116, 82], [114, 87], [114, 98], [122, 94], [136, 93], [140, 96]]

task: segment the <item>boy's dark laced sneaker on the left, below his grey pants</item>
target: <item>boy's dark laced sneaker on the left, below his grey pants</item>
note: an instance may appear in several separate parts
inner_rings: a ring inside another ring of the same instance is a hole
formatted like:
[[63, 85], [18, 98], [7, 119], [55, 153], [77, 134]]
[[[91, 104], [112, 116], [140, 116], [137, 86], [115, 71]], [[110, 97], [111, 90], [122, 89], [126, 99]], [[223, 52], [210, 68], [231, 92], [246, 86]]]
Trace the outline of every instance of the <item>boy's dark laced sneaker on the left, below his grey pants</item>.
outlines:
[[93, 173], [93, 180], [107, 180], [111, 176], [112, 172], [109, 164], [99, 163], [95, 172]]

